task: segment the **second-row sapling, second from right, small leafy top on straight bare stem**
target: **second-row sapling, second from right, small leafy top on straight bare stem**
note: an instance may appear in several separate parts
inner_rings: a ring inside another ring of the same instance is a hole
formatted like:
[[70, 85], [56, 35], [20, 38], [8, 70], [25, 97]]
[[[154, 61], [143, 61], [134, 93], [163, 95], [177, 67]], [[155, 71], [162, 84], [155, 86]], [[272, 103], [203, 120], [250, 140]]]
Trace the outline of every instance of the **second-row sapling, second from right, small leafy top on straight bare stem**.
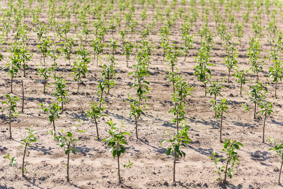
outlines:
[[222, 136], [222, 120], [223, 120], [223, 112], [228, 113], [226, 110], [229, 109], [228, 108], [228, 103], [226, 102], [226, 98], [222, 98], [221, 102], [216, 104], [216, 99], [214, 100], [214, 98], [212, 97], [212, 100], [209, 100], [210, 103], [213, 103], [213, 107], [211, 108], [211, 110], [215, 111], [216, 114], [216, 118], [221, 118], [221, 122], [220, 122], [220, 143], [222, 143], [221, 140], [221, 136]]

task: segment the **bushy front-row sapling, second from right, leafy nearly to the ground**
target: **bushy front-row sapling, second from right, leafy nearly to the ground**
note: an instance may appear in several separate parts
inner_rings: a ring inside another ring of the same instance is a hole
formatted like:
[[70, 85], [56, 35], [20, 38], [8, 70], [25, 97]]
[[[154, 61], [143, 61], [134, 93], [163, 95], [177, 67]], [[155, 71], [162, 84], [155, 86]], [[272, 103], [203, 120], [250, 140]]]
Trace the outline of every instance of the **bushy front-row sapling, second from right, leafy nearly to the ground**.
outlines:
[[[225, 184], [227, 175], [231, 179], [232, 173], [235, 171], [234, 166], [240, 163], [238, 156], [237, 156], [238, 153], [236, 149], [239, 150], [240, 149], [239, 146], [242, 146], [242, 147], [244, 146], [242, 143], [237, 142], [236, 140], [231, 141], [229, 139], [225, 140], [225, 142], [223, 143], [223, 146], [224, 146], [224, 149], [222, 149], [222, 151], [226, 153], [226, 156], [227, 156], [226, 158], [215, 157], [217, 155], [215, 151], [212, 152], [213, 156], [210, 156], [210, 158], [214, 160], [212, 164], [217, 169], [217, 171], [214, 171], [214, 173], [218, 174], [217, 180], [221, 180]], [[217, 166], [219, 162], [224, 162], [224, 161], [226, 161], [226, 165], [223, 165], [221, 167]], [[229, 164], [231, 165], [231, 168], [228, 167]]]

